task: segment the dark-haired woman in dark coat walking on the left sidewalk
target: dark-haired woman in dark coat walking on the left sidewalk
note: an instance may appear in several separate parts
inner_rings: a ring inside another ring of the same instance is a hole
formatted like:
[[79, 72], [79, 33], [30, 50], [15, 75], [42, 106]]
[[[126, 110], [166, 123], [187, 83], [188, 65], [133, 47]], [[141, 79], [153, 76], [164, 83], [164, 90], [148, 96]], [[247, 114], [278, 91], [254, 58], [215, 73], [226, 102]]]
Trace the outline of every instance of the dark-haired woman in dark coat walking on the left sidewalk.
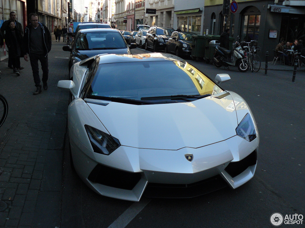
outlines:
[[5, 30], [5, 43], [9, 48], [9, 55], [13, 61], [13, 72], [20, 75], [20, 57], [22, 54], [22, 40], [21, 31], [17, 29], [14, 22], [10, 22]]

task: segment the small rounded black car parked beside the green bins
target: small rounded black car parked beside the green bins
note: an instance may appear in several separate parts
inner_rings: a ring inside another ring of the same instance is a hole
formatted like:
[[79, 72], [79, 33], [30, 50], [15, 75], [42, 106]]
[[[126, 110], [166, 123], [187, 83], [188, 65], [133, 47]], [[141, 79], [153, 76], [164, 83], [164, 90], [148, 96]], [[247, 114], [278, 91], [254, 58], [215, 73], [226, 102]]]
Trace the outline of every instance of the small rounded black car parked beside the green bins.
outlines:
[[192, 54], [192, 40], [196, 33], [173, 32], [165, 46], [165, 53], [174, 53], [176, 56]]

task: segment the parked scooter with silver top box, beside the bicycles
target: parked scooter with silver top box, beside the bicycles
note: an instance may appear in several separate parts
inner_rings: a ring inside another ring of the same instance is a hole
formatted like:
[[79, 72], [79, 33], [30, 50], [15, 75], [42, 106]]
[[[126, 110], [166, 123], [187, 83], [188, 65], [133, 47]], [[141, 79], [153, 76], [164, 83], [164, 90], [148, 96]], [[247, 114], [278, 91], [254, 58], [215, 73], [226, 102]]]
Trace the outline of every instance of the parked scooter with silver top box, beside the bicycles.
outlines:
[[213, 61], [216, 67], [237, 67], [240, 72], [246, 72], [249, 70], [249, 64], [238, 41], [233, 43], [233, 48], [231, 51], [217, 46]]

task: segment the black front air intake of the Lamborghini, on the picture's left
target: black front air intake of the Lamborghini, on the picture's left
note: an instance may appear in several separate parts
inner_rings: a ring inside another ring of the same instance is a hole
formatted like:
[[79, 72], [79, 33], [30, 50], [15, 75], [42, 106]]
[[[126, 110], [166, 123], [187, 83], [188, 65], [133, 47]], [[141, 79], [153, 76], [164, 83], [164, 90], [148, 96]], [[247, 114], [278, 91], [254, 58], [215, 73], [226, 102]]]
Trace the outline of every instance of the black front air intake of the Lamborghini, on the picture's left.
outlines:
[[97, 164], [88, 176], [88, 180], [113, 188], [132, 190], [141, 179], [141, 173], [130, 173]]

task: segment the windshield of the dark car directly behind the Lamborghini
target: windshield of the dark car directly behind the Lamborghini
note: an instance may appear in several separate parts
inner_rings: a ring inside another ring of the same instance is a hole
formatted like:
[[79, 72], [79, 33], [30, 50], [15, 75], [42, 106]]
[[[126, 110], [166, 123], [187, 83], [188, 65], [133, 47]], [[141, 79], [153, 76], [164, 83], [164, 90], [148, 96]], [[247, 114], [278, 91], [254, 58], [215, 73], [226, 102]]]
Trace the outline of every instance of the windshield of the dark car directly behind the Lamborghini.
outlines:
[[118, 32], [81, 33], [75, 47], [76, 50], [127, 48], [122, 35]]

